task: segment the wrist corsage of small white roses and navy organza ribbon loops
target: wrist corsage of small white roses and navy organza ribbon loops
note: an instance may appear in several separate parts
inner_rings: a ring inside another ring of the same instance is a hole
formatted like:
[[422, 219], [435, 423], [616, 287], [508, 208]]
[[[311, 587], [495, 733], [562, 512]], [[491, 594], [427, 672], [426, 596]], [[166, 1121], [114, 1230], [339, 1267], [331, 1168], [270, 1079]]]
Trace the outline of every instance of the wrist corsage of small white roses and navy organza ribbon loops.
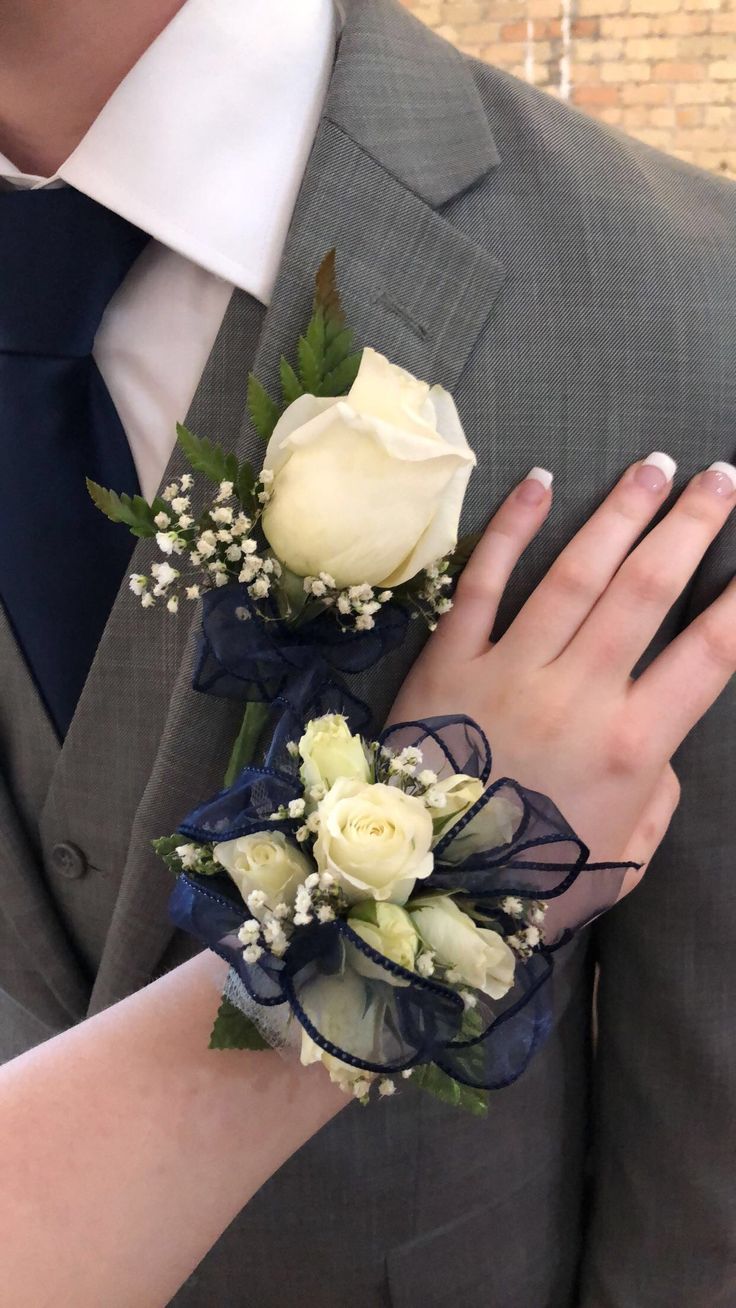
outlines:
[[231, 968], [214, 1046], [485, 1110], [549, 1031], [554, 952], [631, 866], [590, 865], [550, 799], [490, 770], [465, 717], [369, 743], [326, 715], [161, 842], [173, 921]]

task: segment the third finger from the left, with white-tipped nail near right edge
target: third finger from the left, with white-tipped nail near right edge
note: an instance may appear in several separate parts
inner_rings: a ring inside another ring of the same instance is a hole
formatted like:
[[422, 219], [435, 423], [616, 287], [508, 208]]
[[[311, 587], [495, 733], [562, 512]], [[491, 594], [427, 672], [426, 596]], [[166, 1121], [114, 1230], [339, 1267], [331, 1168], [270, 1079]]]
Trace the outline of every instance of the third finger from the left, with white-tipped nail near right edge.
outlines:
[[627, 676], [736, 506], [736, 468], [712, 464], [618, 569], [566, 658], [586, 676]]

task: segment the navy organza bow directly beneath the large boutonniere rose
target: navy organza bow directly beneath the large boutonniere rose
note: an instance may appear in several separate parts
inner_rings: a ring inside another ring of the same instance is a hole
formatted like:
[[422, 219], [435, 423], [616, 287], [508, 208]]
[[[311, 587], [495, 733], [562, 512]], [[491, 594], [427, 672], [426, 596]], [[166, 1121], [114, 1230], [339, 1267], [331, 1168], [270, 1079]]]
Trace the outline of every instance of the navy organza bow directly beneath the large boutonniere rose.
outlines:
[[356, 730], [370, 710], [343, 678], [373, 667], [397, 646], [408, 615], [383, 604], [367, 632], [341, 629], [329, 610], [298, 625], [285, 621], [273, 602], [258, 610], [246, 586], [210, 590], [203, 600], [203, 625], [193, 687], [225, 698], [288, 704], [302, 718], [327, 712], [339, 695]]

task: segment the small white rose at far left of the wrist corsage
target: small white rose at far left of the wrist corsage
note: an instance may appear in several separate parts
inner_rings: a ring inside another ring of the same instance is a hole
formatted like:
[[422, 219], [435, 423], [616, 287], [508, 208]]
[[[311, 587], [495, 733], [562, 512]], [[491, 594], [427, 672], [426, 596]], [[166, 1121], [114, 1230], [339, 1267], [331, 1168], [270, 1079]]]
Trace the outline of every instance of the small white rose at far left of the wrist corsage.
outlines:
[[243, 900], [251, 891], [263, 891], [264, 906], [293, 904], [297, 886], [312, 870], [301, 850], [280, 831], [258, 831], [216, 845], [213, 855], [230, 872]]

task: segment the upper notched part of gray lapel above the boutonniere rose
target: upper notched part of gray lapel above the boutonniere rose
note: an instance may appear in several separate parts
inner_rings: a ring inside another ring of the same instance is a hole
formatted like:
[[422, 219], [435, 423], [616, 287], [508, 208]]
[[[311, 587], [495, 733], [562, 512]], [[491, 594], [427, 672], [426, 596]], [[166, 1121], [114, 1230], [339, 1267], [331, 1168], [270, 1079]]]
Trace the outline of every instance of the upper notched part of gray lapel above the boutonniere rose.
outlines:
[[[396, 0], [352, 0], [255, 371], [276, 388], [337, 249], [357, 341], [452, 388], [503, 281], [437, 207], [498, 162], [461, 56]], [[244, 426], [243, 451], [252, 446]]]

